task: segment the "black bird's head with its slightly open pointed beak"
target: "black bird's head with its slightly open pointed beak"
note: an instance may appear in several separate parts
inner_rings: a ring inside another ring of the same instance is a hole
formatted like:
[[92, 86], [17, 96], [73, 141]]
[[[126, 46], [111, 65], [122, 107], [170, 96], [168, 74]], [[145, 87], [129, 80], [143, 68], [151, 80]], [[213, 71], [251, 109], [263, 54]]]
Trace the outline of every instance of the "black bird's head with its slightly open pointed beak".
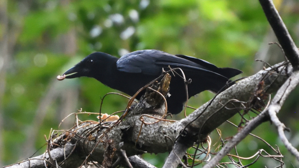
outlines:
[[94, 77], [102, 72], [107, 66], [111, 65], [116, 57], [106, 53], [96, 52], [86, 56], [82, 61], [77, 63], [74, 67], [67, 70], [63, 75], [65, 78], [71, 79], [76, 77]]

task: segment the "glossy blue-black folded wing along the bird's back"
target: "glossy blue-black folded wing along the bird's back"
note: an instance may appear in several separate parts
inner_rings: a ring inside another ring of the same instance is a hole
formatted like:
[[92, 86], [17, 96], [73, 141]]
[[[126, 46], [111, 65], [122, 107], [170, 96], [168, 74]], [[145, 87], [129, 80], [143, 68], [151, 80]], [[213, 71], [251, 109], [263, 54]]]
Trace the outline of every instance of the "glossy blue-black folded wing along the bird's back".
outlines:
[[[119, 71], [129, 73], [143, 73], [146, 75], [158, 75], [170, 68], [181, 68], [183, 71], [200, 74], [202, 76], [220, 75], [226, 78], [240, 74], [242, 71], [233, 68], [217, 68], [215, 65], [185, 55], [172, 55], [158, 50], [135, 51], [122, 56], [117, 61]], [[231, 73], [231, 74], [230, 74]]]

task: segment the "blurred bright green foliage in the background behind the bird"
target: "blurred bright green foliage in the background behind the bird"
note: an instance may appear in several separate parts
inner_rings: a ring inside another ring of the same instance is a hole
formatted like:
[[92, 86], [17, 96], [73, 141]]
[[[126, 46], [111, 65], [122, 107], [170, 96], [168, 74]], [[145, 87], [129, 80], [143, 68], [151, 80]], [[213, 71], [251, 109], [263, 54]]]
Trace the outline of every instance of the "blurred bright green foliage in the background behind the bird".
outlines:
[[[27, 137], [28, 132], [35, 132], [33, 143], [37, 150], [45, 144], [43, 135], [48, 135], [51, 128], [58, 129], [60, 121], [67, 116], [61, 114], [64, 107], [61, 94], [66, 90], [79, 91], [77, 104], [71, 107], [72, 112], [80, 108], [87, 112], [99, 112], [101, 98], [108, 92], [118, 92], [86, 77], [56, 81], [57, 75], [92, 52], [121, 56], [127, 51], [158, 49], [205, 59], [219, 67], [238, 68], [244, 71], [238, 77], [245, 77], [257, 71], [253, 68], [257, 64], [254, 55], [270, 30], [258, 1], [9, 0], [7, 3], [9, 28], [16, 31], [16, 43], [11, 46], [13, 53], [8, 62], [6, 79], [1, 79], [6, 80], [1, 102], [4, 112], [1, 160], [4, 165], [33, 154], [22, 151], [26, 139], [30, 141], [31, 138]], [[280, 5], [281, 2], [275, 3]], [[285, 10], [282, 17], [291, 33], [296, 35], [298, 13]], [[68, 34], [75, 38], [75, 49], [71, 54], [65, 51], [65, 46], [70, 42]], [[298, 39], [295, 38], [295, 41]], [[42, 100], [51, 92], [54, 96], [47, 109], [39, 109]], [[213, 94], [203, 92], [190, 99], [189, 105], [199, 107], [212, 97]], [[126, 103], [126, 98], [109, 95], [103, 101], [102, 113], [123, 110]], [[285, 110], [296, 109], [292, 109], [294, 104], [294, 101], [289, 102], [290, 107]], [[32, 128], [30, 126], [39, 120], [35, 117], [39, 110], [45, 110], [45, 116], [39, 121], [39, 127]], [[190, 112], [192, 110], [188, 109]], [[181, 117], [183, 114], [175, 116], [176, 119]], [[96, 120], [96, 116], [80, 115], [80, 119]], [[231, 120], [240, 122], [238, 116]], [[296, 121], [292, 123], [293, 128], [298, 128]], [[224, 137], [237, 132], [227, 123], [220, 129]], [[254, 133], [271, 145], [281, 145], [269, 123], [258, 127]], [[295, 135], [298, 136], [296, 130]], [[211, 136], [217, 140], [215, 132]], [[252, 144], [256, 145], [251, 150]], [[260, 148], [269, 149], [261, 141], [248, 137], [238, 145], [238, 152], [247, 157]], [[280, 150], [287, 153], [283, 146]], [[43, 151], [41, 149], [38, 154]], [[159, 167], [166, 157], [167, 153], [159, 154], [159, 157], [144, 155], [150, 163]], [[293, 159], [286, 162], [290, 165]], [[254, 167], [265, 164], [266, 161], [260, 161]], [[272, 162], [267, 164], [271, 165]]]

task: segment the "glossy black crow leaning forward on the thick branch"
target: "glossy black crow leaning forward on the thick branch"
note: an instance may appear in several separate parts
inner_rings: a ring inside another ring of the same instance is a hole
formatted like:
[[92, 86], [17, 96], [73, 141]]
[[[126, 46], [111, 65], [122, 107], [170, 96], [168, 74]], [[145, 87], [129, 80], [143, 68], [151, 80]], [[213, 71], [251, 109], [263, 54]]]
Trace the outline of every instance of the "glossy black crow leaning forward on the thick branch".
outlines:
[[[215, 65], [191, 56], [172, 55], [158, 50], [140, 50], [126, 54], [119, 59], [115, 56], [96, 52], [86, 56], [81, 62], [64, 73], [65, 78], [93, 77], [101, 83], [133, 96], [140, 88], [159, 77], [162, 68], [181, 68], [188, 84], [188, 99], [202, 91], [217, 93], [229, 78], [241, 74], [233, 68], [218, 68]], [[179, 72], [179, 71], [177, 71]], [[171, 74], [171, 73], [170, 73]], [[140, 99], [141, 94], [137, 97]], [[171, 114], [182, 111], [186, 101], [184, 80], [171, 78], [170, 97], [167, 108]]]

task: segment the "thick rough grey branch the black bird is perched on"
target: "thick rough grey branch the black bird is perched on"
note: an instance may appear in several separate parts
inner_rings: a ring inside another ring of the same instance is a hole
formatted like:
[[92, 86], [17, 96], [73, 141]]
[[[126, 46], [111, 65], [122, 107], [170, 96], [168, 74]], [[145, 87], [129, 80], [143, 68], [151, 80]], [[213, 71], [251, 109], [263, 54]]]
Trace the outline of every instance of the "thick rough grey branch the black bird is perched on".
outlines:
[[[256, 91], [259, 89], [257, 86], [261, 82], [264, 84], [263, 87], [269, 87], [267, 89], [269, 93], [276, 91], [286, 81], [288, 73], [292, 71], [291, 65], [285, 63], [274, 65], [273, 68], [262, 70], [251, 77], [239, 81], [217, 95], [213, 101], [205, 103], [182, 120], [176, 122], [161, 120], [155, 124], [144, 125], [140, 120], [142, 114], [147, 113], [154, 117], [161, 117], [164, 114], [165, 106], [152, 109], [146, 101], [140, 101], [127, 114], [126, 119], [117, 126], [112, 127], [115, 122], [110, 123], [110, 125], [107, 123], [108, 125], [106, 124], [106, 126], [100, 126], [97, 122], [86, 121], [80, 123], [79, 127], [76, 126], [68, 132], [59, 135], [53, 144], [60, 144], [65, 141], [76, 144], [77, 147], [74, 153], [78, 153], [86, 158], [86, 162], [97, 161], [102, 163], [105, 160], [104, 158], [107, 157], [109, 150], [116, 151], [116, 155], [111, 155], [113, 161], [116, 161], [118, 156], [120, 156], [120, 149], [125, 150], [126, 155], [130, 158], [144, 152], [167, 152], [173, 148], [173, 143], [176, 142], [178, 146], [185, 144], [185, 146], [178, 148], [179, 152], [175, 149], [175, 155], [172, 155], [170, 158], [177, 166], [184, 154], [184, 152], [181, 152], [185, 151], [183, 149], [192, 146], [194, 142], [204, 141], [211, 131], [239, 112], [241, 108], [236, 109], [236, 107], [239, 107], [242, 103], [247, 102], [245, 104], [249, 106], [252, 99], [258, 96], [256, 95]], [[281, 71], [281, 73], [277, 74], [276, 71]], [[235, 101], [236, 99], [238, 101]], [[144, 116], [144, 122], [151, 123], [156, 121], [158, 120], [155, 118]], [[142, 129], [140, 129], [141, 126]], [[202, 132], [199, 133], [199, 130], [202, 130]], [[139, 132], [140, 135], [138, 135]], [[168, 137], [167, 142], [165, 136]], [[184, 138], [184, 136], [187, 138]], [[177, 137], [178, 140], [176, 140]], [[200, 137], [200, 140], [198, 140], [198, 137]], [[183, 140], [180, 140], [180, 138]], [[137, 143], [136, 140], [138, 140]], [[69, 150], [71, 151], [72, 148]], [[65, 152], [70, 153], [70, 151]], [[71, 162], [67, 161], [68, 159], [63, 164], [63, 167], [71, 167], [69, 166]], [[168, 163], [164, 167], [170, 166]], [[43, 167], [44, 165], [40, 164], [39, 166]], [[172, 167], [175, 167], [175, 164], [172, 164]]]

